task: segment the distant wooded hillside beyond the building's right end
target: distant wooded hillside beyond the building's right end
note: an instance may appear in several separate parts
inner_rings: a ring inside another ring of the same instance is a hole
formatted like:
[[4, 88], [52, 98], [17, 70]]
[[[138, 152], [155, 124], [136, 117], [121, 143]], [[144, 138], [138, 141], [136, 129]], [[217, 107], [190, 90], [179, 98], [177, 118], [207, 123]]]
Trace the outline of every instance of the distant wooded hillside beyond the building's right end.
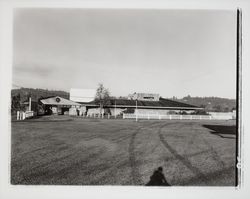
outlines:
[[235, 99], [227, 99], [220, 97], [191, 97], [186, 96], [182, 99], [176, 97], [171, 98], [179, 102], [199, 106], [205, 108], [206, 111], [228, 112], [236, 108]]

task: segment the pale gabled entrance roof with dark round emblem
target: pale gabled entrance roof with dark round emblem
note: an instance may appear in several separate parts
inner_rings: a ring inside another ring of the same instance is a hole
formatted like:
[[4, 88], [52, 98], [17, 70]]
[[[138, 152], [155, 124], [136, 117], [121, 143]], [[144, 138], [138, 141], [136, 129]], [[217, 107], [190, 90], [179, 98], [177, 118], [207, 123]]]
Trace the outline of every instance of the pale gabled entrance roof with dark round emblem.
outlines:
[[77, 102], [73, 102], [71, 100], [54, 96], [40, 99], [40, 102], [45, 105], [62, 105], [62, 106], [79, 106], [80, 104]]

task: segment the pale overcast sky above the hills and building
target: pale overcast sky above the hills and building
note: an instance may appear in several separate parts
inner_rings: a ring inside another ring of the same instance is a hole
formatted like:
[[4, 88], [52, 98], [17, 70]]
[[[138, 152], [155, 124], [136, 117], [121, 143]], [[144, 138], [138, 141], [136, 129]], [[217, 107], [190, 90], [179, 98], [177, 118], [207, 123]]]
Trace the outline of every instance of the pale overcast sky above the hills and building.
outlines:
[[13, 84], [235, 98], [236, 11], [17, 9]]

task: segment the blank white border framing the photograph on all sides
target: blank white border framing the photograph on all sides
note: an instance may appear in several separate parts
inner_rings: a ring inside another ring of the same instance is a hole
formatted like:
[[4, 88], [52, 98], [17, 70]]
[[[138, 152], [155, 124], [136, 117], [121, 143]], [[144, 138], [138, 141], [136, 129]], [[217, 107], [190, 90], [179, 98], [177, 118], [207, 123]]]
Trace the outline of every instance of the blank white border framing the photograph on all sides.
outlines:
[[[242, 9], [242, 111], [241, 174], [238, 187], [137, 187], [137, 186], [40, 186], [10, 184], [13, 10], [16, 8], [113, 8], [113, 9]], [[249, 35], [250, 3], [247, 0], [0, 0], [0, 198], [247, 198], [250, 195], [249, 151]]]

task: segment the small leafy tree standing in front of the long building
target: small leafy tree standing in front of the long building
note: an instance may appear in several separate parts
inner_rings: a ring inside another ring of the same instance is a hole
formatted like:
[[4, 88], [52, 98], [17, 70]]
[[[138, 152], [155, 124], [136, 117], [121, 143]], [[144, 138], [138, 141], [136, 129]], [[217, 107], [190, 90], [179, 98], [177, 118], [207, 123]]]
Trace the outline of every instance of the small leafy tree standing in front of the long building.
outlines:
[[100, 115], [102, 114], [102, 109], [104, 104], [110, 98], [110, 92], [107, 88], [103, 86], [102, 83], [98, 84], [98, 88], [96, 89], [95, 101], [100, 104]]

